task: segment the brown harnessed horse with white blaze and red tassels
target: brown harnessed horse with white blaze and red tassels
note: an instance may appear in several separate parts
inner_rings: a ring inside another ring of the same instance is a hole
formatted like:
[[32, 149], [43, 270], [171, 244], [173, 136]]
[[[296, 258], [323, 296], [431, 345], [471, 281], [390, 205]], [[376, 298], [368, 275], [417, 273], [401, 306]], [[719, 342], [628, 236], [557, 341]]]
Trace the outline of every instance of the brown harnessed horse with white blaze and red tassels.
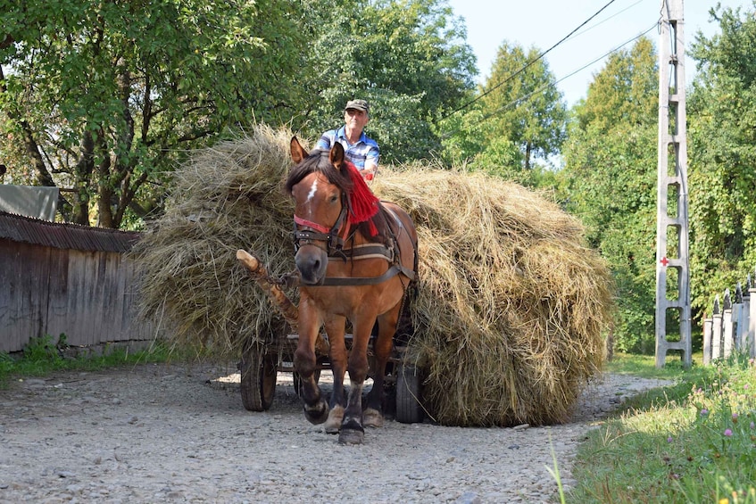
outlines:
[[[364, 427], [383, 426], [386, 363], [407, 289], [418, 266], [418, 235], [399, 206], [381, 202], [370, 191], [344, 147], [308, 153], [294, 136], [286, 191], [295, 202], [295, 265], [299, 276], [299, 343], [295, 371], [301, 377], [305, 417], [325, 424], [341, 444], [359, 444]], [[352, 324], [347, 354], [346, 321]], [[362, 409], [362, 388], [369, 373], [368, 347], [373, 326], [373, 386]], [[328, 335], [334, 384], [323, 399], [315, 378], [315, 343], [320, 328]], [[350, 387], [345, 397], [344, 378]]]

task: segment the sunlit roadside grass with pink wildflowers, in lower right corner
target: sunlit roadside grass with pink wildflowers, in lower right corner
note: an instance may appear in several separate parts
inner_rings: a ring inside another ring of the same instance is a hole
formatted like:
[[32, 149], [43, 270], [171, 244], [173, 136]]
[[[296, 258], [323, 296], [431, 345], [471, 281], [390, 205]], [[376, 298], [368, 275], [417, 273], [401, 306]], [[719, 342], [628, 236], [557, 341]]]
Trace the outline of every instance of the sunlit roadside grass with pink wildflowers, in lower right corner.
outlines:
[[[610, 370], [622, 367], [652, 372], [627, 358]], [[655, 373], [676, 384], [636, 397], [589, 435], [567, 501], [756, 504], [754, 360]]]

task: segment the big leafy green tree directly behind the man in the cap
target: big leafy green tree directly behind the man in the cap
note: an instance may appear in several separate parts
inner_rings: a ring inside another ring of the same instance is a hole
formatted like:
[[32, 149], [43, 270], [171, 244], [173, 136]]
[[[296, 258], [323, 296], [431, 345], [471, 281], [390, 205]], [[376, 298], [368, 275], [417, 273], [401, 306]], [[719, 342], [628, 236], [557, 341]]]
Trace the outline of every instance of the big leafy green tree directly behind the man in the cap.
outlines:
[[328, 4], [314, 15], [321, 29], [306, 86], [317, 98], [297, 121], [304, 136], [341, 125], [346, 101], [364, 97], [382, 162], [439, 152], [437, 121], [474, 86], [474, 56], [452, 9], [437, 0], [378, 0]]

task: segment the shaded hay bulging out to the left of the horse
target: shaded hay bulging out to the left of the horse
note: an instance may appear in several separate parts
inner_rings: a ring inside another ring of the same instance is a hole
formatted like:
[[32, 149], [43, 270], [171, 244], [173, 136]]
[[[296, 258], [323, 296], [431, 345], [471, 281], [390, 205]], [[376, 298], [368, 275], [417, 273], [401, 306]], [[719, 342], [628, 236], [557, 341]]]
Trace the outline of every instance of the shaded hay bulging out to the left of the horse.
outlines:
[[291, 133], [267, 126], [199, 151], [174, 174], [164, 216], [134, 250], [139, 314], [179, 347], [240, 357], [287, 334], [283, 318], [236, 259], [253, 251], [271, 276], [294, 269], [294, 205], [281, 191]]

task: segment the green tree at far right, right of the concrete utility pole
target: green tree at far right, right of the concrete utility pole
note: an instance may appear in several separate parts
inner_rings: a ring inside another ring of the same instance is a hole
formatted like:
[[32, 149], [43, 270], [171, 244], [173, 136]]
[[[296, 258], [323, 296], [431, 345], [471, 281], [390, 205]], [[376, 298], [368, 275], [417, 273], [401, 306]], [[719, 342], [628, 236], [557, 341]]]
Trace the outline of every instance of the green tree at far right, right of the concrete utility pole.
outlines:
[[688, 101], [692, 304], [710, 311], [756, 265], [756, 19], [723, 9], [720, 34], [697, 37]]

